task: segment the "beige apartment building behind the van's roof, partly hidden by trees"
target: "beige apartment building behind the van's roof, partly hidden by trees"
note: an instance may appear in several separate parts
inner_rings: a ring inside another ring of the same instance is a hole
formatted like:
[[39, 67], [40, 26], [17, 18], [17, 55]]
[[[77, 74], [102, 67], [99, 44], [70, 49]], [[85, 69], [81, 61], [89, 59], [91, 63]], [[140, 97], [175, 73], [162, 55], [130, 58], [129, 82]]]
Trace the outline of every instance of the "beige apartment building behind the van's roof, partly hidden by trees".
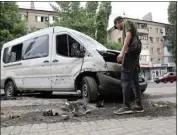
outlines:
[[19, 8], [21, 19], [27, 20], [29, 31], [34, 29], [42, 29], [54, 23], [54, 16], [56, 12], [47, 10], [35, 9], [34, 2], [31, 2], [30, 8]]

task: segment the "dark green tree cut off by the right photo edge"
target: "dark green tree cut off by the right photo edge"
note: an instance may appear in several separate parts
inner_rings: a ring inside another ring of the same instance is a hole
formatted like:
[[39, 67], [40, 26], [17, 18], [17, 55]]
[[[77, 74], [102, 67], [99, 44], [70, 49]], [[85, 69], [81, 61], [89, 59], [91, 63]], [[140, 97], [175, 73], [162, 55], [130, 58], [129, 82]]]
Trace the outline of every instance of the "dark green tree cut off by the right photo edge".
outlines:
[[173, 59], [177, 64], [177, 2], [171, 1], [168, 7], [168, 21], [172, 26], [168, 29], [168, 39], [171, 43]]

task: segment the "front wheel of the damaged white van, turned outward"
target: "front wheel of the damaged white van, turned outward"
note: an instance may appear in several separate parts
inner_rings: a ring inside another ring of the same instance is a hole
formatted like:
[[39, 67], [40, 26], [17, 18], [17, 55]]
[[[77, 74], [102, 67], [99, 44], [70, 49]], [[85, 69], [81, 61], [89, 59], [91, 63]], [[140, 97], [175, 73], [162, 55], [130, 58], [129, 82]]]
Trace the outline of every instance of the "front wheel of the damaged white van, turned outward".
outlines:
[[98, 86], [93, 77], [83, 77], [80, 85], [82, 98], [88, 103], [96, 102], [98, 99]]

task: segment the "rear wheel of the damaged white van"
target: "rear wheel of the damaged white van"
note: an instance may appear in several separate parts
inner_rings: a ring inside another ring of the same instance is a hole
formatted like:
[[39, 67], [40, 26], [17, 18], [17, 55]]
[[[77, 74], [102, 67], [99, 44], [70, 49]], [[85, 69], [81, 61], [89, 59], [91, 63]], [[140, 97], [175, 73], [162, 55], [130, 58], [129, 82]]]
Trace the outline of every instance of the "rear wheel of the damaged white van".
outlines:
[[5, 91], [6, 97], [17, 96], [17, 90], [16, 90], [15, 85], [12, 81], [9, 81], [6, 83], [4, 91]]

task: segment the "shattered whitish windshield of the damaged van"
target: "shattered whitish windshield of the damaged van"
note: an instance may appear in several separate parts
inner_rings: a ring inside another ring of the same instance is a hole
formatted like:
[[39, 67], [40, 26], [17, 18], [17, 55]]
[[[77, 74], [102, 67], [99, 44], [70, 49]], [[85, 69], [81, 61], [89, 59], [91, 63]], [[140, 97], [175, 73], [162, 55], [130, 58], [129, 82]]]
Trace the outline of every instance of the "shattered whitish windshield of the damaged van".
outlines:
[[85, 43], [87, 46], [91, 46], [93, 49], [96, 49], [96, 50], [100, 50], [100, 51], [106, 51], [107, 48], [104, 47], [102, 44], [100, 44], [99, 42], [97, 42], [96, 40], [92, 39], [91, 37], [85, 35], [85, 34], [82, 34], [82, 33], [79, 33], [79, 32], [75, 32], [74, 33], [77, 37], [80, 38], [80, 40]]

